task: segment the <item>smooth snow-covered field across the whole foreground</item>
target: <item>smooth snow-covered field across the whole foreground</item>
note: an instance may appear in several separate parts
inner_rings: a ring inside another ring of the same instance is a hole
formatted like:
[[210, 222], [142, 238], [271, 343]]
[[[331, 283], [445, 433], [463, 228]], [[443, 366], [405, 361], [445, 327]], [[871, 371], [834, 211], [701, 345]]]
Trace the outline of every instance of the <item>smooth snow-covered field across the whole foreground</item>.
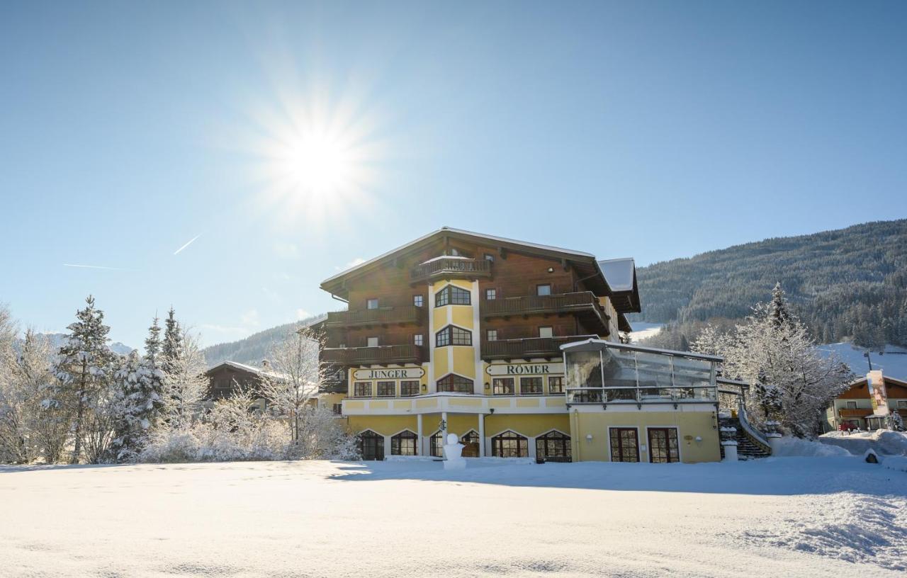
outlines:
[[736, 464], [0, 468], [3, 576], [903, 576], [907, 474]]

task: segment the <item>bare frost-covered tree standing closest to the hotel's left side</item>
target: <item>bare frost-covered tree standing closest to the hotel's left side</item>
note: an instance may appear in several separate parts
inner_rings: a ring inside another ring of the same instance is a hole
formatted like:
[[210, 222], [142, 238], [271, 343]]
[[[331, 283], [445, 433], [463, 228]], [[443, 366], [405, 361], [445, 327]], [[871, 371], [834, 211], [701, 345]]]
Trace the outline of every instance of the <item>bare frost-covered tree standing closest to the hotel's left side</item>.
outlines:
[[318, 386], [325, 371], [318, 362], [321, 337], [305, 325], [298, 325], [278, 342], [269, 354], [269, 371], [261, 377], [261, 395], [270, 409], [287, 420], [289, 437], [296, 445], [307, 406], [317, 400]]

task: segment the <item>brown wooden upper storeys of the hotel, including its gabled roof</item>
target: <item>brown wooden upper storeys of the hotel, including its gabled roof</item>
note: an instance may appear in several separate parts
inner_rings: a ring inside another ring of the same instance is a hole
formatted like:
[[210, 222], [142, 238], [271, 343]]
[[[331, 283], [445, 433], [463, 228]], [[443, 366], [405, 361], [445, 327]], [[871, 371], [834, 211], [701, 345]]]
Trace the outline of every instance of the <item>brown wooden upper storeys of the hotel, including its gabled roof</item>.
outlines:
[[[454, 289], [445, 289], [452, 283]], [[335, 275], [321, 288], [349, 303], [321, 323], [322, 360], [338, 368], [429, 363], [442, 339], [437, 333], [448, 325], [469, 332], [469, 345], [485, 362], [556, 358], [565, 342], [616, 340], [618, 331], [629, 330], [625, 314], [639, 311], [635, 283], [615, 308], [615, 292], [594, 255], [450, 228]], [[433, 316], [438, 308], [466, 304], [446, 318]], [[454, 345], [463, 344], [456, 339]]]

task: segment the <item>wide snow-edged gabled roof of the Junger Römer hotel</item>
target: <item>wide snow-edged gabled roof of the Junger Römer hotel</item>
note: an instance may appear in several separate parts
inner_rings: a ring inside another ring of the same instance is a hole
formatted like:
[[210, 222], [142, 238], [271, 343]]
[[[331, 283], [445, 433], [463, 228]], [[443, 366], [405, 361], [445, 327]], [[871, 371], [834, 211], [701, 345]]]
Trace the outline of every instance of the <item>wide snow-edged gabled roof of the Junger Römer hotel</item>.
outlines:
[[346, 298], [346, 294], [348, 294], [345, 284], [346, 280], [373, 270], [385, 262], [391, 262], [399, 255], [405, 255], [406, 253], [417, 251], [425, 246], [430, 246], [434, 241], [444, 237], [473, 242], [478, 245], [496, 246], [512, 253], [541, 255], [564, 262], [569, 261], [577, 268], [581, 275], [588, 277], [588, 279], [586, 279], [587, 283], [594, 284], [596, 279], [599, 280], [600, 286], [596, 291], [597, 294], [610, 295], [611, 293], [608, 281], [601, 272], [601, 268], [595, 259], [595, 255], [592, 255], [591, 253], [574, 251], [572, 249], [565, 249], [557, 246], [540, 245], [528, 241], [517, 241], [502, 236], [484, 235], [483, 233], [474, 233], [473, 231], [455, 229], [449, 226], [443, 226], [428, 235], [420, 236], [414, 241], [398, 246], [395, 249], [382, 255], [378, 255], [373, 259], [369, 259], [364, 263], [350, 267], [337, 275], [328, 277], [321, 283], [321, 288], [330, 294]]

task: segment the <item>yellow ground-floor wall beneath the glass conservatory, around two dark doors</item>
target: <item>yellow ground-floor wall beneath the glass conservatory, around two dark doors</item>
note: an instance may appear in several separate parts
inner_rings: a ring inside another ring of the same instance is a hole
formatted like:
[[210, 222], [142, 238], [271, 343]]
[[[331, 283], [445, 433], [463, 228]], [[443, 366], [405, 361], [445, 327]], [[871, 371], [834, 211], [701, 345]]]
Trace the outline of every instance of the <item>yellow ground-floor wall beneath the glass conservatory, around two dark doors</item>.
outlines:
[[[571, 412], [571, 441], [574, 461], [608, 461], [610, 459], [609, 428], [639, 429], [639, 459], [649, 461], [649, 438], [646, 427], [677, 428], [680, 461], [686, 463], [718, 461], [718, 430], [711, 412], [707, 411], [602, 411]], [[591, 434], [592, 440], [586, 439]], [[692, 439], [685, 439], [691, 436]], [[696, 441], [696, 437], [702, 441]], [[642, 451], [645, 445], [646, 451]]]

